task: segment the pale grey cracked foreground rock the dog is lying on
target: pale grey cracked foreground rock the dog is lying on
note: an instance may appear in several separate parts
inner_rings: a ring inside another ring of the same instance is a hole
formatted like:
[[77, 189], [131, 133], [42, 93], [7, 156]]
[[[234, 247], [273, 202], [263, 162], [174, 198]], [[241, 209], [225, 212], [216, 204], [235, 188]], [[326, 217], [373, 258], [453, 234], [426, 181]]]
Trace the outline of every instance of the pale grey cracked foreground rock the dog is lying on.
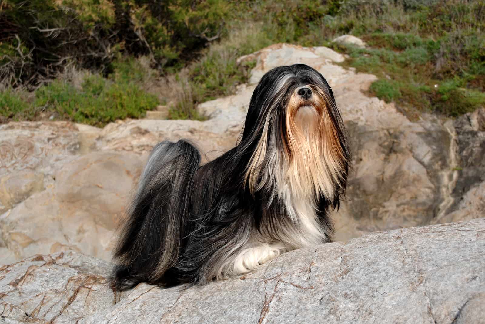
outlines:
[[139, 284], [123, 294], [106, 285], [107, 262], [37, 255], [0, 269], [0, 315], [54, 324], [483, 323], [484, 249], [481, 218], [294, 250], [202, 288]]

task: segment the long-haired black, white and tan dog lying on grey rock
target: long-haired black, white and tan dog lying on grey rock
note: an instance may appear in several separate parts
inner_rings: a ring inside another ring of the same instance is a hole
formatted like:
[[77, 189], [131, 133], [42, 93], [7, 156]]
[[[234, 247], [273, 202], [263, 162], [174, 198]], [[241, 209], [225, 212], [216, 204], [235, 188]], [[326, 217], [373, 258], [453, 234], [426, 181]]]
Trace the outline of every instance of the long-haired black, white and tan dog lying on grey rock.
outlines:
[[154, 147], [114, 251], [117, 289], [203, 285], [332, 242], [328, 210], [345, 193], [350, 153], [332, 90], [315, 69], [267, 72], [239, 144], [200, 161], [184, 140]]

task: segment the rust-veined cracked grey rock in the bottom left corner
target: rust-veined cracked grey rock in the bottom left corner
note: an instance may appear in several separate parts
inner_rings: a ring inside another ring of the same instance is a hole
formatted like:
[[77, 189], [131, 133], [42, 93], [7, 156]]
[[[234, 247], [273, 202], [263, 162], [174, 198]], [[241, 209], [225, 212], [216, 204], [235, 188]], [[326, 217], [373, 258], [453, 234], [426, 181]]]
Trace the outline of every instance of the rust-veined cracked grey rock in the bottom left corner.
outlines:
[[[36, 255], [0, 268], [0, 316], [10, 323], [74, 323], [113, 307], [108, 263], [76, 253]], [[23, 275], [19, 275], [22, 273]], [[42, 288], [43, 287], [43, 288]]]

